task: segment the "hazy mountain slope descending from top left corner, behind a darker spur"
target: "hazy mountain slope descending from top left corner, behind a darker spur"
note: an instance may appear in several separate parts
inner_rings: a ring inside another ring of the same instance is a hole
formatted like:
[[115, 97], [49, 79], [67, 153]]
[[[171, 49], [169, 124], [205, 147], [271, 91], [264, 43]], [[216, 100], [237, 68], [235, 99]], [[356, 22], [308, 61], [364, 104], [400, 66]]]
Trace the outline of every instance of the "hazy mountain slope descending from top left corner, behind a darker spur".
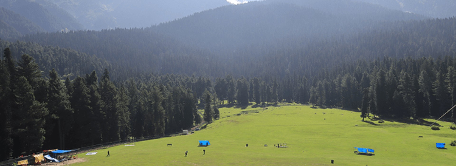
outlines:
[[26, 17], [28, 20], [33, 21], [44, 30], [55, 32], [62, 29], [78, 30], [81, 27], [73, 26], [71, 20], [61, 20], [52, 12], [41, 6], [40, 4], [31, 0], [4, 0], [0, 3], [0, 7], [4, 7], [17, 14]]

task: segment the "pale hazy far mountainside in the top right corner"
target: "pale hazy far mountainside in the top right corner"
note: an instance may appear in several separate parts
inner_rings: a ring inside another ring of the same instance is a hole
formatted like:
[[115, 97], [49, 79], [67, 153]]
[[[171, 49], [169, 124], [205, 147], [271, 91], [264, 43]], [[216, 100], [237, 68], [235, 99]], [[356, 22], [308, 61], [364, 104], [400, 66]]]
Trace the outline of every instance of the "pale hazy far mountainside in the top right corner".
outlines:
[[436, 18], [456, 15], [455, 0], [354, 0], [378, 4], [390, 9], [413, 12]]

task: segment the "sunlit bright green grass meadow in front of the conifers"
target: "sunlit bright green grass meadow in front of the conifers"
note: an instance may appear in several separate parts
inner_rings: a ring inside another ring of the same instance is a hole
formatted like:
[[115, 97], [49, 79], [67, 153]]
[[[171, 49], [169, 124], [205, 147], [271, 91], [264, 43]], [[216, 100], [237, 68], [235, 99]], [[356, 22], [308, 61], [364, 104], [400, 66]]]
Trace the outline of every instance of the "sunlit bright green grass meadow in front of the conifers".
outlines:
[[[456, 161], [456, 147], [450, 146], [456, 131], [448, 122], [439, 121], [443, 127], [433, 131], [393, 121], [363, 122], [359, 112], [299, 105], [220, 112], [220, 120], [192, 135], [115, 146], [93, 156], [79, 154], [86, 162], [74, 166], [454, 166]], [[198, 147], [198, 140], [211, 146]], [[435, 148], [436, 142], [446, 143], [447, 149]], [[274, 147], [278, 143], [288, 148]], [[354, 147], [374, 149], [375, 155], [356, 155]]]

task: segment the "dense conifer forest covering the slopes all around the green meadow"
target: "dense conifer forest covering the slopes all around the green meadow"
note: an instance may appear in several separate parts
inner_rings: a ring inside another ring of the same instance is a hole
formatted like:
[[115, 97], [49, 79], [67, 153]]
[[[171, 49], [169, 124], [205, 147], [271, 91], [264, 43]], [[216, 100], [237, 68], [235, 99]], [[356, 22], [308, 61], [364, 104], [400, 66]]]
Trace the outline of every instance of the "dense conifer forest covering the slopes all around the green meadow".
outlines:
[[360, 119], [419, 119], [456, 104], [456, 17], [348, 0], [326, 11], [327, 1], [266, 0], [145, 28], [59, 32], [52, 28], [67, 27], [59, 19], [46, 17], [45, 27], [0, 8], [0, 160], [164, 136], [210, 123], [224, 106], [294, 102], [362, 111]]

